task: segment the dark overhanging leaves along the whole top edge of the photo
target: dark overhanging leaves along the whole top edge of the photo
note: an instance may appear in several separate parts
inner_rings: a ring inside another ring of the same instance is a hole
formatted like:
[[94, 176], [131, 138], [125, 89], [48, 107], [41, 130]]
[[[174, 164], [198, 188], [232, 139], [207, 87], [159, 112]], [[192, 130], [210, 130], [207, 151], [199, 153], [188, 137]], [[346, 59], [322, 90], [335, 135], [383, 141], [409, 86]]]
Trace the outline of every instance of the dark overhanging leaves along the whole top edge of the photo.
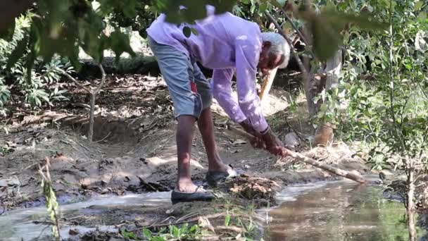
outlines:
[[[106, 20], [115, 19], [117, 16], [136, 19], [141, 14], [148, 12], [165, 13], [166, 20], [170, 23], [194, 23], [195, 20], [206, 17], [206, 5], [213, 5], [216, 13], [232, 11], [237, 0], [160, 0], [160, 1], [115, 1], [115, 0], [45, 0], [36, 1], [27, 11], [31, 17], [32, 25], [25, 32], [25, 37], [18, 43], [9, 58], [8, 67], [21, 58], [26, 49], [31, 54], [27, 55], [27, 68], [37, 56], [42, 56], [44, 62], [49, 62], [54, 54], [68, 57], [75, 68], [79, 68], [79, 50], [82, 48], [96, 62], [101, 62], [103, 51], [112, 49], [116, 56], [127, 52], [134, 56], [130, 47], [130, 37], [120, 31], [120, 27], [132, 25], [130, 21], [119, 21], [115, 30], [106, 35]], [[244, 2], [244, 1], [243, 1]], [[248, 1], [246, 1], [248, 2]], [[256, 1], [251, 1], [256, 4]], [[258, 1], [264, 8], [279, 8], [285, 1], [264, 0]], [[180, 6], [186, 8], [180, 9]], [[141, 11], [136, 11], [139, 9]], [[263, 8], [260, 8], [262, 10]], [[313, 47], [317, 57], [325, 60], [332, 56], [339, 47], [339, 32], [346, 23], [354, 23], [365, 29], [379, 29], [385, 25], [376, 21], [370, 21], [370, 16], [351, 16], [327, 9], [315, 14], [314, 11], [298, 10], [297, 16], [308, 23], [309, 33], [313, 36]], [[117, 20], [117, 19], [116, 19]], [[131, 21], [132, 22], [132, 21]], [[0, 37], [7, 39], [13, 35], [13, 25]], [[140, 32], [144, 32], [144, 30]], [[184, 27], [184, 35], [197, 35], [196, 30]]]

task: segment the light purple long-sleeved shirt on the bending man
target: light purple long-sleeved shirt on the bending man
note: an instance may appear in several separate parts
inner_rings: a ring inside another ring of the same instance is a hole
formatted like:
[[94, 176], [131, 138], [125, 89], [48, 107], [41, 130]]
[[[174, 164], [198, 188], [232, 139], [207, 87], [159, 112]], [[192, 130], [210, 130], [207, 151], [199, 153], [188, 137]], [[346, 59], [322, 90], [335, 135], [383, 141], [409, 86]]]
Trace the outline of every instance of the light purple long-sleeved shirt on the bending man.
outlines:
[[[253, 128], [263, 132], [268, 125], [260, 108], [256, 91], [256, 72], [262, 47], [260, 28], [232, 13], [213, 15], [215, 9], [207, 6], [208, 17], [191, 25], [198, 35], [187, 38], [184, 25], [165, 23], [160, 15], [147, 29], [149, 36], [159, 44], [170, 45], [206, 68], [213, 69], [213, 96], [233, 121], [248, 118]], [[232, 77], [237, 73], [238, 99], [232, 97]]]

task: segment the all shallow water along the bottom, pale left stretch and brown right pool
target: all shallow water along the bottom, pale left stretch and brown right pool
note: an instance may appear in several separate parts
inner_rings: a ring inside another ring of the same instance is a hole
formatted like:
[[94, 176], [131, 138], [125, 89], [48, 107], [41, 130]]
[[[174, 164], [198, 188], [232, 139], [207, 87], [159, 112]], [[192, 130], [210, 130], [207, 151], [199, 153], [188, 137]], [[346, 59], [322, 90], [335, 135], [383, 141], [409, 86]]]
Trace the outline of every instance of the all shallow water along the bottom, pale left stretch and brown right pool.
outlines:
[[[378, 185], [347, 180], [294, 185], [277, 199], [280, 206], [259, 210], [270, 220], [265, 240], [408, 240], [403, 204], [384, 200]], [[147, 219], [141, 214], [170, 206], [170, 192], [99, 196], [63, 204], [61, 236], [69, 237], [70, 228], [81, 234], [96, 229], [117, 232], [114, 224], [124, 218], [141, 221]], [[51, 234], [49, 225], [34, 221], [49, 221], [44, 206], [0, 216], [0, 240], [43, 240]]]

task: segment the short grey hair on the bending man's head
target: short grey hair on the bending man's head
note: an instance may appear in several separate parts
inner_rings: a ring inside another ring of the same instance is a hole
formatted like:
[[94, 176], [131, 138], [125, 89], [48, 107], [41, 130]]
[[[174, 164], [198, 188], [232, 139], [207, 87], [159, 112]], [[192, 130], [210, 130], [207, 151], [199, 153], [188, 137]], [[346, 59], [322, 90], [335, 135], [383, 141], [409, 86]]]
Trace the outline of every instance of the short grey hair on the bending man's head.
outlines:
[[276, 32], [262, 32], [263, 42], [270, 42], [272, 45], [269, 52], [272, 54], [283, 54], [284, 62], [278, 68], [286, 68], [290, 59], [290, 46], [287, 41]]

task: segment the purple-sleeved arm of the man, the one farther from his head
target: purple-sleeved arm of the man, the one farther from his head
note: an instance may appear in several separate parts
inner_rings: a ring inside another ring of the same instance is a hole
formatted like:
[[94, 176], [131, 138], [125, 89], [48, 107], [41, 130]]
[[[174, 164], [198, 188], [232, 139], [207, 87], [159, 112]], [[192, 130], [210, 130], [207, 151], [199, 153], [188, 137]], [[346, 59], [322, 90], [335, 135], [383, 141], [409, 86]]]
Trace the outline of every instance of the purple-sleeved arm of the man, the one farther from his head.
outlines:
[[232, 97], [233, 73], [233, 68], [213, 71], [213, 96], [232, 121], [241, 123], [245, 121], [246, 116], [242, 113], [236, 99]]

